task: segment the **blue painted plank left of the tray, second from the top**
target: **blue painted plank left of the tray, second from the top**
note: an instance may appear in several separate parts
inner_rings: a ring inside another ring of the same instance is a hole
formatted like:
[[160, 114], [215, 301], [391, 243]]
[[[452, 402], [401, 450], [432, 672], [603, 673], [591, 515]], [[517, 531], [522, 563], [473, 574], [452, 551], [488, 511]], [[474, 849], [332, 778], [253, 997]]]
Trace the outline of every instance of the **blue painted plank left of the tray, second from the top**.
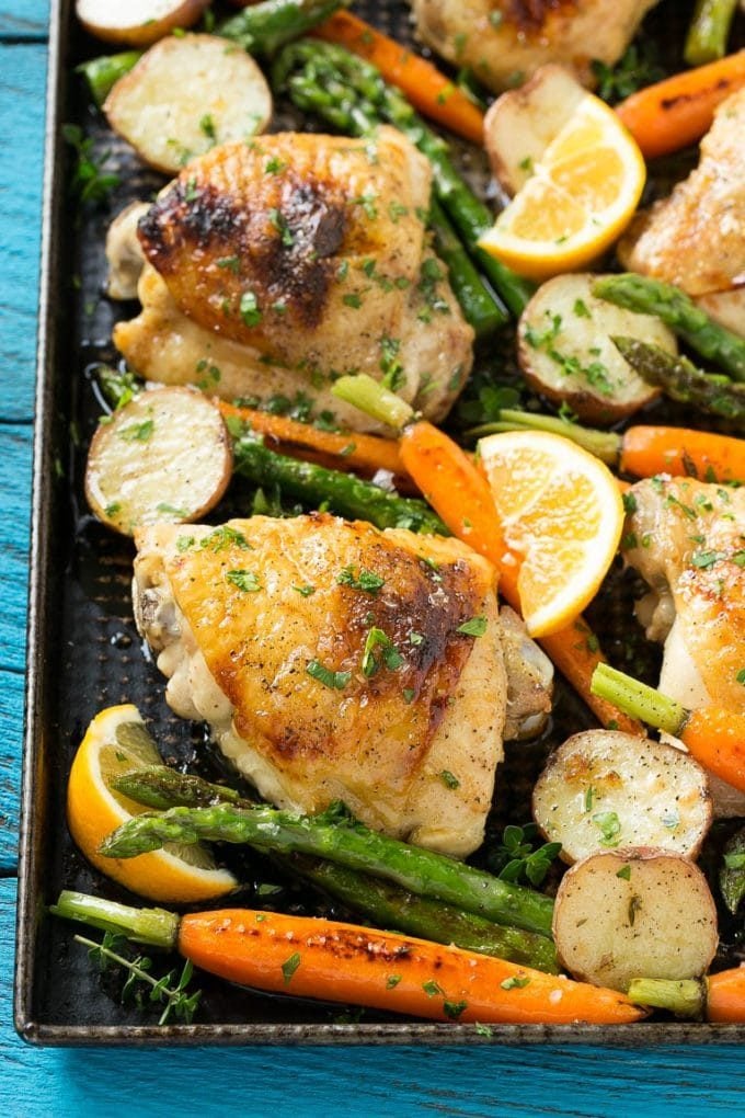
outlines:
[[0, 42], [0, 368], [6, 421], [34, 415], [45, 82], [44, 44]]

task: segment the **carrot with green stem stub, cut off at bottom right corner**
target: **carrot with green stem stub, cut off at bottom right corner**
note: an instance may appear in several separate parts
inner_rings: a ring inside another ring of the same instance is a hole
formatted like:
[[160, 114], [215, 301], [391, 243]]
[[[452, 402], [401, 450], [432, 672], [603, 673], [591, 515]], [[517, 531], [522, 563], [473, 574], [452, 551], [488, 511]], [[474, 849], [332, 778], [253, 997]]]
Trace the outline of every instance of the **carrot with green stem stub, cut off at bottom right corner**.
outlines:
[[745, 1024], [745, 964], [704, 978], [634, 978], [629, 997], [638, 1005], [716, 1024]]

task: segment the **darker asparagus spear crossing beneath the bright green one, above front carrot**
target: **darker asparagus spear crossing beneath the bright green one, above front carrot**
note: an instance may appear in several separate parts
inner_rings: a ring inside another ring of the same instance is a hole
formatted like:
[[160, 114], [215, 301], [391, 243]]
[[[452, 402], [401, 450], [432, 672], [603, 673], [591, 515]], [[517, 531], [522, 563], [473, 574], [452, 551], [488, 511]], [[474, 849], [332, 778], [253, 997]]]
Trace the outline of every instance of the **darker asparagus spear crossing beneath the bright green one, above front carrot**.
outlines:
[[[113, 787], [115, 792], [147, 807], [209, 807], [216, 803], [252, 807], [232, 788], [210, 784], [201, 777], [178, 773], [163, 765], [127, 773], [115, 780]], [[278, 861], [381, 928], [394, 928], [421, 939], [455, 944], [481, 955], [496, 955], [510, 963], [556, 973], [556, 951], [545, 936], [502, 927], [472, 912], [464, 912], [428, 897], [417, 897], [399, 885], [333, 862], [303, 855], [279, 858]]]

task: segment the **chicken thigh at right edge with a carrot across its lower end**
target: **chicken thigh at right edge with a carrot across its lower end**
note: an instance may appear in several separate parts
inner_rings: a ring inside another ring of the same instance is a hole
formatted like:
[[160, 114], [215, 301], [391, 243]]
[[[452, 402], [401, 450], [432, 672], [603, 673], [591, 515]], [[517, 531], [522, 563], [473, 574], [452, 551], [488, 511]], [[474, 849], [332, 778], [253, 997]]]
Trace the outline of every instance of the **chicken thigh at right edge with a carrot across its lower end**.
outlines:
[[[745, 691], [745, 490], [651, 479], [630, 490], [625, 558], [649, 584], [640, 619], [665, 641], [660, 690], [688, 707], [742, 711]], [[718, 814], [745, 796], [711, 779]]]

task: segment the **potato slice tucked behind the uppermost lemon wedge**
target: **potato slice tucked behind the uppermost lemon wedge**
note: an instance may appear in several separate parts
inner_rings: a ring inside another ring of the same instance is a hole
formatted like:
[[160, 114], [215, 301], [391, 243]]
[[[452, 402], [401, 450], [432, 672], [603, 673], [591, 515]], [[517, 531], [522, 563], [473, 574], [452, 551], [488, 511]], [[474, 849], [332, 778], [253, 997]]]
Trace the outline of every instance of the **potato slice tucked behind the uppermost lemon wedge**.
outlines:
[[550, 63], [519, 89], [497, 97], [484, 120], [484, 141], [494, 177], [508, 195], [525, 186], [584, 95], [571, 70]]

